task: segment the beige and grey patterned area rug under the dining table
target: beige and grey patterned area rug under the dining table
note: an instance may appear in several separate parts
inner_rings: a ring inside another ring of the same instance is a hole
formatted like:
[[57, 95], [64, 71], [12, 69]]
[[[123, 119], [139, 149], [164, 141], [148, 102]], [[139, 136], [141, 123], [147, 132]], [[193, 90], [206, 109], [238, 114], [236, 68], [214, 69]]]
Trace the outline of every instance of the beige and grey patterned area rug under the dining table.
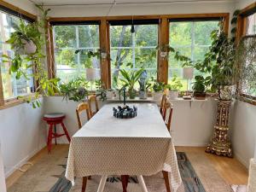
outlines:
[[[44, 156], [32, 166], [8, 192], [80, 192], [82, 179], [77, 178], [74, 186], [64, 177], [67, 163], [67, 148], [56, 150]], [[219, 177], [205, 155], [177, 152], [178, 166], [183, 178], [183, 185], [178, 192], [231, 192], [230, 187]], [[100, 176], [92, 176], [86, 192], [95, 192]], [[161, 172], [144, 177], [148, 192], [166, 192]], [[140, 192], [137, 177], [130, 177], [129, 192]], [[105, 192], [121, 192], [122, 186], [118, 176], [108, 177]]]

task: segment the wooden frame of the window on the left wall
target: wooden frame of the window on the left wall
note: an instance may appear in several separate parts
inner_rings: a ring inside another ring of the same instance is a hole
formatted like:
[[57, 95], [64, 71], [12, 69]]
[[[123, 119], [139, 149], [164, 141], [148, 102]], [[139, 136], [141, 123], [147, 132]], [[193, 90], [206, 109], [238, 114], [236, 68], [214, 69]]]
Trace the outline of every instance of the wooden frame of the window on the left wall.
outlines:
[[[0, 7], [11, 12], [11, 15], [23, 16], [25, 20], [29, 20], [29, 21], [38, 20], [38, 17], [36, 15], [32, 15], [31, 13], [27, 12], [26, 10], [20, 9], [20, 8], [14, 6], [10, 3], [6, 3], [2, 0], [0, 0]], [[36, 87], [36, 84], [34, 84], [34, 86]], [[34, 94], [31, 93], [31, 94], [27, 94], [25, 96], [33, 97], [33, 95]], [[14, 107], [15, 105], [19, 105], [20, 103], [23, 103], [23, 102], [24, 101], [21, 101], [18, 99], [18, 96], [14, 97], [14, 98], [4, 99], [2, 73], [1, 73], [1, 68], [0, 68], [0, 109]]]

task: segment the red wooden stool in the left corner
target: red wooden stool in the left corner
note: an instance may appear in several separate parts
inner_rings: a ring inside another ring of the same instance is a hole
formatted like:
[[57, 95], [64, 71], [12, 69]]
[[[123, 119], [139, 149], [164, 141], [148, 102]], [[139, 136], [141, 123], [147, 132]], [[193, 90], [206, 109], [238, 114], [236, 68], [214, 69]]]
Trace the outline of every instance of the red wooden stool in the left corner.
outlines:
[[[57, 144], [57, 137], [65, 136], [67, 137], [68, 142], [70, 143], [70, 137], [67, 132], [67, 128], [63, 123], [63, 119], [65, 119], [64, 113], [48, 113], [44, 114], [44, 120], [49, 125], [49, 131], [48, 131], [48, 140], [47, 140], [47, 147], [48, 152], [51, 150], [51, 141], [55, 138], [55, 144]], [[64, 133], [63, 134], [57, 134], [56, 133], [56, 125], [61, 124]], [[53, 132], [53, 128], [55, 128], [55, 131]]]

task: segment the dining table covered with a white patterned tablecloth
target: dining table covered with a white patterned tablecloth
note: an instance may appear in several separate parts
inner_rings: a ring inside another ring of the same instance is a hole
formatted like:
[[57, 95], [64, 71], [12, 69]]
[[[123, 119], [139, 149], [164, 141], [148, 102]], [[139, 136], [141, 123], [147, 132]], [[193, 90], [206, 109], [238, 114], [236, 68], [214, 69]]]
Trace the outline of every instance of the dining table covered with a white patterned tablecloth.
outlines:
[[[79, 130], [70, 143], [65, 176], [73, 184], [75, 177], [101, 175], [98, 192], [108, 176], [137, 176], [143, 192], [148, 189], [143, 176], [166, 172], [173, 192], [182, 183], [172, 137], [155, 103], [129, 103], [137, 108], [131, 119], [113, 117], [107, 103]], [[163, 181], [164, 182], [164, 181]]]

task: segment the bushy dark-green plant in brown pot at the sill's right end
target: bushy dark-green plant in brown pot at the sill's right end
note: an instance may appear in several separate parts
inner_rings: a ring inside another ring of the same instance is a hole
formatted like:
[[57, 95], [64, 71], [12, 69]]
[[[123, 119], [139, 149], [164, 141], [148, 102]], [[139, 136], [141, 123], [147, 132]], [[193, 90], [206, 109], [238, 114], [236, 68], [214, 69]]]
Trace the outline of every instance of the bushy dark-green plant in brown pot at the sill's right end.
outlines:
[[206, 93], [206, 79], [203, 76], [197, 75], [195, 76], [195, 82], [193, 84], [193, 95], [195, 99], [204, 100], [207, 96]]

